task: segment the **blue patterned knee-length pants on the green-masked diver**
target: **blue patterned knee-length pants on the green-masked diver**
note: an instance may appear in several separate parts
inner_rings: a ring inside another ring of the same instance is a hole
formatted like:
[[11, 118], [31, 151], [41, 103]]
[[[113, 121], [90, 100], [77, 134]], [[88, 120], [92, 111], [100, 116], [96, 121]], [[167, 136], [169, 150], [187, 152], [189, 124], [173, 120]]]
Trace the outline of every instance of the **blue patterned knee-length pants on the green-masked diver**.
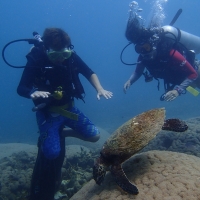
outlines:
[[72, 107], [68, 111], [77, 114], [78, 120], [62, 115], [52, 116], [51, 114], [44, 118], [42, 112], [37, 112], [41, 148], [48, 159], [54, 159], [60, 153], [60, 132], [64, 126], [79, 132], [84, 138], [90, 138], [99, 134], [97, 127], [78, 108]]

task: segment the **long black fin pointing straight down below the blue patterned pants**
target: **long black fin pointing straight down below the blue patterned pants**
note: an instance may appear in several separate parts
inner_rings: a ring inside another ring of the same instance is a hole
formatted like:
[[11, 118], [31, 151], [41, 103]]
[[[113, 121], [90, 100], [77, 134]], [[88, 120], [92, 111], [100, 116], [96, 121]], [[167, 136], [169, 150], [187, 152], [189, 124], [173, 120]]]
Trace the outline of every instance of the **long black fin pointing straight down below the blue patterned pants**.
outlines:
[[61, 168], [65, 157], [65, 141], [61, 140], [61, 152], [55, 159], [47, 159], [41, 147], [38, 149], [33, 169], [29, 200], [54, 200], [61, 182]]

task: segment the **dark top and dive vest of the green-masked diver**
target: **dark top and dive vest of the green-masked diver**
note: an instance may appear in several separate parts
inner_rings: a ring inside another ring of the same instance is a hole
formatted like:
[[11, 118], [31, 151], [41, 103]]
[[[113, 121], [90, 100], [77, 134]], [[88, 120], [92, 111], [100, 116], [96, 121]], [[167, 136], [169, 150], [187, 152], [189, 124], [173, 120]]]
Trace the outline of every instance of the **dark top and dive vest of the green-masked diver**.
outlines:
[[[89, 80], [94, 72], [81, 58], [72, 53], [63, 66], [56, 66], [48, 60], [45, 54], [41, 57], [35, 51], [27, 55], [28, 62], [17, 88], [18, 94], [30, 98], [30, 95], [36, 90], [53, 93], [61, 86], [64, 92], [63, 98], [59, 101], [51, 98], [51, 104], [63, 105], [73, 97], [82, 98], [84, 90], [78, 74], [82, 74]], [[35, 103], [40, 102], [36, 101]]]

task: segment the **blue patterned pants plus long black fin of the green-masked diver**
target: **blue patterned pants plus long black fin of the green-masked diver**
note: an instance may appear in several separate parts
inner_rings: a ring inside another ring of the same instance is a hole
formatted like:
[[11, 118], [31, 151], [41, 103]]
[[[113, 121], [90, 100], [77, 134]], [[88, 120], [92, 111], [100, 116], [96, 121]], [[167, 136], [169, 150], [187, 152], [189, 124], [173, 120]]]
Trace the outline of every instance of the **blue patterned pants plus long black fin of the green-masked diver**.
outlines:
[[64, 126], [72, 128], [85, 138], [99, 134], [94, 124], [78, 108], [72, 107], [68, 111], [77, 114], [78, 120], [44, 114], [42, 111], [36, 113], [40, 136], [29, 200], [54, 200], [65, 157], [65, 138], [60, 136]]

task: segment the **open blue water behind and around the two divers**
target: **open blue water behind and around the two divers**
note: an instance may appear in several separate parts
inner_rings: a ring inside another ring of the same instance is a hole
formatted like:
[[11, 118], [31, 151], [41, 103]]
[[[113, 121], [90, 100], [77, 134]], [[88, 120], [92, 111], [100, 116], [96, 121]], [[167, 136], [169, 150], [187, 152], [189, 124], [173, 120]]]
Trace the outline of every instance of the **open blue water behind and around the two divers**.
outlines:
[[[161, 0], [160, 0], [161, 1]], [[131, 117], [151, 108], [165, 107], [167, 117], [188, 119], [199, 116], [199, 98], [182, 95], [173, 102], [159, 100], [164, 92], [157, 81], [145, 83], [141, 78], [131, 86], [127, 94], [123, 85], [134, 66], [120, 62], [120, 53], [128, 43], [124, 33], [128, 19], [130, 0], [40, 0], [2, 1], [0, 6], [0, 49], [15, 39], [32, 38], [32, 32], [43, 33], [46, 27], [59, 27], [71, 36], [75, 51], [98, 75], [102, 86], [114, 93], [110, 100], [96, 99], [96, 91], [81, 78], [86, 91], [85, 102], [76, 105], [99, 127], [112, 131]], [[163, 2], [163, 1], [162, 1]], [[155, 1], [138, 1], [147, 19]], [[175, 26], [200, 36], [198, 21], [199, 0], [168, 0], [163, 4], [167, 25], [179, 8], [183, 13]], [[16, 43], [6, 51], [7, 60], [13, 65], [25, 65], [25, 55], [31, 45]], [[199, 57], [197, 55], [197, 57]], [[127, 62], [135, 62], [137, 54], [129, 47], [124, 54]], [[7, 66], [0, 59], [0, 143], [25, 142], [35, 144], [38, 129], [31, 100], [17, 95], [22, 69]]]

